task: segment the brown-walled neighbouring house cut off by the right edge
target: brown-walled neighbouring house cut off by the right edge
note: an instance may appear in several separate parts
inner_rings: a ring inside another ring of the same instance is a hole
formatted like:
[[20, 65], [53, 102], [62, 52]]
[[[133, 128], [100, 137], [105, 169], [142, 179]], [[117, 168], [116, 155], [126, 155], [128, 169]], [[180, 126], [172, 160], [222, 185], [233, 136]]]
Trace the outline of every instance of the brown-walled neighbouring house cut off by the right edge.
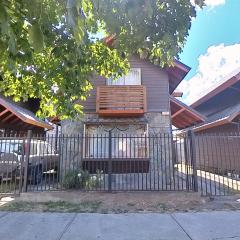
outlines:
[[240, 176], [240, 69], [222, 78], [191, 107], [205, 116], [192, 127], [201, 169]]

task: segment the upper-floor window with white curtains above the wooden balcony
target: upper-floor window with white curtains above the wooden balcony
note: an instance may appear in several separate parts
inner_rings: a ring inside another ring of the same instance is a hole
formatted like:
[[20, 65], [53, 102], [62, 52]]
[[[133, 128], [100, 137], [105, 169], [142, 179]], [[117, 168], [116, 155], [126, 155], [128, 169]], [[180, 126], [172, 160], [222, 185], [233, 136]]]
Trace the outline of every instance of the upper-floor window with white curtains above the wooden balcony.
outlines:
[[108, 79], [107, 85], [141, 85], [141, 68], [131, 68], [125, 76]]

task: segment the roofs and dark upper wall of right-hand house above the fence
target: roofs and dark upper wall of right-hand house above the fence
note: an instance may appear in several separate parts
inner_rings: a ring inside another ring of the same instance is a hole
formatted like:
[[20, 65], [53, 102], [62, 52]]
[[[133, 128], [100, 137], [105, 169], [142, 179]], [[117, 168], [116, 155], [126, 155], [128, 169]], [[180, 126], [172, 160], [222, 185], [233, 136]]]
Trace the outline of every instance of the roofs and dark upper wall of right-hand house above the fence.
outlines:
[[191, 105], [206, 116], [195, 126], [201, 133], [240, 133], [240, 69], [223, 78], [203, 97]]

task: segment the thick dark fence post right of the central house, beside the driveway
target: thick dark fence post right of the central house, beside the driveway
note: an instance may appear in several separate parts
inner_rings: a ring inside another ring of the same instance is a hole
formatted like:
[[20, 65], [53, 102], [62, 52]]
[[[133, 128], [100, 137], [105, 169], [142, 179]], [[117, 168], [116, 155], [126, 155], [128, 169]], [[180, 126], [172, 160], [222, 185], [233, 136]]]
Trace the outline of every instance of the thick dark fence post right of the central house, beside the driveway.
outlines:
[[198, 192], [198, 176], [197, 176], [197, 159], [196, 159], [196, 144], [195, 144], [195, 134], [193, 130], [188, 131], [189, 138], [189, 147], [190, 147], [190, 158], [191, 165], [193, 169], [193, 190], [194, 192]]

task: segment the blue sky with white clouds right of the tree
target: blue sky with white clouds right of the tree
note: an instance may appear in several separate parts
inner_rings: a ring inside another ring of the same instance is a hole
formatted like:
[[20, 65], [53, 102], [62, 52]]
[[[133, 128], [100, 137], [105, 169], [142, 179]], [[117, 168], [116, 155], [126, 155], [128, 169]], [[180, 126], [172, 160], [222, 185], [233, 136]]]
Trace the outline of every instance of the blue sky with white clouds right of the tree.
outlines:
[[180, 60], [192, 68], [178, 87], [187, 104], [240, 69], [240, 0], [205, 3], [207, 6], [197, 11], [180, 54]]

